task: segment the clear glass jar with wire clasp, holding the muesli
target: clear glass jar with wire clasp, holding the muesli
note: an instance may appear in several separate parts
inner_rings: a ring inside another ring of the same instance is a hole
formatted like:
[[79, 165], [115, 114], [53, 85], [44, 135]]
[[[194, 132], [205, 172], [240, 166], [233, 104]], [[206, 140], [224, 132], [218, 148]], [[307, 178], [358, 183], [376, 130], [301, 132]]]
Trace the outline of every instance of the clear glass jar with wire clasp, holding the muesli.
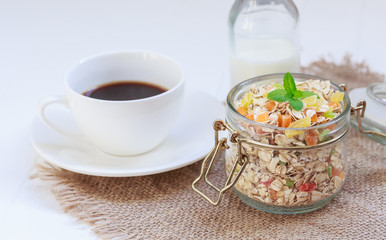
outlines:
[[[296, 214], [325, 206], [341, 191], [347, 176], [345, 142], [352, 108], [347, 93], [341, 102], [341, 114], [326, 123], [307, 128], [269, 126], [249, 120], [236, 110], [236, 103], [252, 86], [279, 84], [283, 76], [270, 74], [252, 78], [236, 85], [229, 92], [226, 123], [215, 122], [216, 146], [204, 160], [201, 176], [192, 184], [193, 189], [213, 205], [218, 204], [222, 194], [233, 187], [243, 202], [256, 209]], [[323, 81], [321, 84], [329, 84], [335, 91], [345, 90], [343, 86], [319, 77], [306, 74], [292, 76], [298, 83], [310, 79], [320, 80]], [[228, 130], [230, 144], [227, 144], [226, 138], [218, 140], [218, 132], [221, 130]], [[306, 138], [315, 131], [324, 134], [319, 134], [316, 145], [308, 146]], [[227, 148], [225, 172], [228, 180], [225, 187], [219, 189], [206, 177], [221, 148]], [[194, 184], [204, 175], [205, 181], [219, 192], [217, 201], [210, 200], [195, 188]]]

